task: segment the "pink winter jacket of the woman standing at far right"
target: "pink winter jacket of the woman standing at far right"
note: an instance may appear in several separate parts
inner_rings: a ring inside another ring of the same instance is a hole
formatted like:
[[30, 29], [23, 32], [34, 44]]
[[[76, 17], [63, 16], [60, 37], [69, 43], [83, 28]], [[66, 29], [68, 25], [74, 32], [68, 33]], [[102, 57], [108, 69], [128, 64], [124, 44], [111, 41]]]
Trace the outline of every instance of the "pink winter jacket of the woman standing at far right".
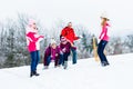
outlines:
[[102, 32], [101, 32], [101, 34], [100, 34], [100, 39], [101, 39], [101, 40], [109, 41], [108, 27], [110, 27], [109, 23], [105, 23], [105, 26], [102, 27]]

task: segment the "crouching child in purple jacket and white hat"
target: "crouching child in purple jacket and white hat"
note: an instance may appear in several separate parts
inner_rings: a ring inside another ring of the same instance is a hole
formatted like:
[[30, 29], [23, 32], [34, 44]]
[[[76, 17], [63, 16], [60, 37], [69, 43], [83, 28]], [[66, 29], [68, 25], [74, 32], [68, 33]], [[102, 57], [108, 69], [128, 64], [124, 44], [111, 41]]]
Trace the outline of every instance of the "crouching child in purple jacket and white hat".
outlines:
[[47, 48], [44, 52], [44, 59], [43, 59], [44, 69], [48, 69], [51, 60], [54, 61], [54, 67], [57, 68], [59, 63], [59, 58], [60, 58], [60, 48], [57, 46], [54, 39], [52, 39], [50, 46]]

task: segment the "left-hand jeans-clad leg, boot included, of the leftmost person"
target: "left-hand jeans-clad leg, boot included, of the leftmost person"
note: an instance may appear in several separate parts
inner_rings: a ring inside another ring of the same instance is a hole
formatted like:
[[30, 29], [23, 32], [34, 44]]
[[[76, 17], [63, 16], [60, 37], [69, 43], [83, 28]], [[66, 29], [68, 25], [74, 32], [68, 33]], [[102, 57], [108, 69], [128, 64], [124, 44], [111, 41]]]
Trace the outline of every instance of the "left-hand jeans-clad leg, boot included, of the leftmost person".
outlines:
[[30, 52], [31, 55], [31, 73], [30, 77], [33, 76], [33, 72], [35, 71], [35, 60], [37, 60], [37, 53], [35, 51]]

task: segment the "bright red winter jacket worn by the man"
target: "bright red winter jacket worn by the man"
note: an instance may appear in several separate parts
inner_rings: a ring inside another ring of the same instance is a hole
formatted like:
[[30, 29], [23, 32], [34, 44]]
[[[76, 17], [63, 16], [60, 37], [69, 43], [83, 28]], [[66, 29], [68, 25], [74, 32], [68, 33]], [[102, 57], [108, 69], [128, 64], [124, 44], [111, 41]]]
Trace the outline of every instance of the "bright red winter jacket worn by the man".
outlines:
[[69, 41], [73, 43], [74, 40], [78, 40], [79, 37], [75, 36], [73, 28], [65, 27], [62, 32], [62, 37], [65, 37]]

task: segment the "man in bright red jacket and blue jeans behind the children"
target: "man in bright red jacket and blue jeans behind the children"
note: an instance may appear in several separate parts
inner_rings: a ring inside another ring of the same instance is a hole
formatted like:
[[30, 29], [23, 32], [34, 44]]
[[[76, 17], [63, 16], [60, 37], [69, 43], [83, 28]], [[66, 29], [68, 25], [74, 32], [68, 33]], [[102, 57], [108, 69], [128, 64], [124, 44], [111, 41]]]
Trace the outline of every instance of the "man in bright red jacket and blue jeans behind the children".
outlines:
[[62, 31], [61, 31], [61, 37], [64, 37], [68, 39], [68, 41], [71, 43], [71, 51], [73, 53], [73, 58], [72, 58], [72, 63], [76, 63], [76, 47], [74, 47], [74, 40], [78, 40], [79, 37], [75, 36], [74, 30], [72, 28], [72, 22], [68, 23], [68, 27], [65, 27]]

